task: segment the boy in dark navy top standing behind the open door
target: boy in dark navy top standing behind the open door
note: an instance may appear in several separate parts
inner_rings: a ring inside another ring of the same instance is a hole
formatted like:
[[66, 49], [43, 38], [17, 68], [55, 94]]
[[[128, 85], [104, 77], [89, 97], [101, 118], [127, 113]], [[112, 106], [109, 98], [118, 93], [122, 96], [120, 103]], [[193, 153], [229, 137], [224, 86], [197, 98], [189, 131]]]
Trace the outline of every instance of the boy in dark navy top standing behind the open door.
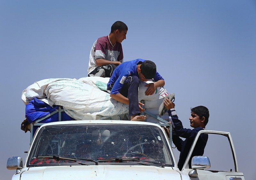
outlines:
[[[180, 151], [180, 159], [178, 168], [181, 170], [193, 144], [198, 131], [205, 129], [209, 120], [209, 110], [204, 106], [197, 106], [191, 108], [191, 116], [189, 118], [190, 126], [194, 129], [183, 128], [182, 122], [178, 119], [177, 113], [174, 109], [174, 104], [167, 98], [164, 98], [164, 106], [168, 110], [169, 119], [172, 123], [173, 135], [172, 142]], [[186, 138], [184, 141], [180, 138]], [[202, 156], [204, 148], [208, 140], [208, 134], [201, 134], [197, 140], [196, 146], [193, 150], [191, 158], [189, 159], [189, 168], [191, 168], [191, 160], [194, 156]]]

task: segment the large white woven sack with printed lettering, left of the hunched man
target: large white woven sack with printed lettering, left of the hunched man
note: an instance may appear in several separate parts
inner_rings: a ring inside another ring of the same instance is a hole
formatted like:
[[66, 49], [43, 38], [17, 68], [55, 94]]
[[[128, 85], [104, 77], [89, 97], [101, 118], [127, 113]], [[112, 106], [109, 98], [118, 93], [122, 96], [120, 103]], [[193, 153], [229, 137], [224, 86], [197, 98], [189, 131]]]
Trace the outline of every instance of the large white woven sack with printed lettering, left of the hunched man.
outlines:
[[[128, 113], [129, 107], [110, 94], [78, 80], [60, 80], [49, 83], [45, 94], [55, 105], [63, 106], [72, 118], [97, 119]], [[99, 118], [99, 117], [98, 117]]]

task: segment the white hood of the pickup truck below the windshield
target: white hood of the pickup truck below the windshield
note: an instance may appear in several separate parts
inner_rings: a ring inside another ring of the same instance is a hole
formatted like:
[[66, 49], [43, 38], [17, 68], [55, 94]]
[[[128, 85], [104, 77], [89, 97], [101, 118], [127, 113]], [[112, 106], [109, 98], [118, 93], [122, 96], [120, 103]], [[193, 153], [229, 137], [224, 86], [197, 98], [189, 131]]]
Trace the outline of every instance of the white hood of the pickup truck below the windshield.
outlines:
[[20, 180], [37, 179], [180, 179], [180, 173], [172, 167], [92, 165], [92, 166], [48, 166], [29, 168], [20, 174]]

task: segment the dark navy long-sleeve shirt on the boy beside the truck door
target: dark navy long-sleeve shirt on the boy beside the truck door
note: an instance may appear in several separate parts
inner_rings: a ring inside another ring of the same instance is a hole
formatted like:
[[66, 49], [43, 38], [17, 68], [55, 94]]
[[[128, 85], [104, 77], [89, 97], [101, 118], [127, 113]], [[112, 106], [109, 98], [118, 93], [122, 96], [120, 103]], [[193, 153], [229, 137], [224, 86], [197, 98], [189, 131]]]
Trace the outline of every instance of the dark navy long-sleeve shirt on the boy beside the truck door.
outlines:
[[[189, 150], [193, 144], [198, 131], [203, 130], [203, 128], [198, 127], [194, 129], [183, 128], [182, 122], [178, 119], [175, 109], [168, 110], [169, 119], [172, 122], [172, 127], [174, 133], [172, 135], [172, 142], [180, 151], [180, 159], [178, 162], [178, 168], [181, 170], [187, 157]], [[180, 138], [186, 138], [184, 141]], [[189, 168], [191, 168], [191, 159], [194, 156], [202, 156], [204, 154], [204, 148], [208, 140], [208, 134], [201, 134], [197, 140], [196, 146], [193, 150], [191, 158], [189, 159]]]

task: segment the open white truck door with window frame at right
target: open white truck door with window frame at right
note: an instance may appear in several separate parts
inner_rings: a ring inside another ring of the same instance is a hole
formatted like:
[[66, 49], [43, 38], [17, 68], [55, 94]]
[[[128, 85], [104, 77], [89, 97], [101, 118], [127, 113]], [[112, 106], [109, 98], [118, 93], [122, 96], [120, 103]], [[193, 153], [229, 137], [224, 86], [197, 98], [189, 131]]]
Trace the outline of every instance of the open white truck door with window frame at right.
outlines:
[[[189, 159], [195, 148], [198, 137], [203, 133], [208, 134], [208, 141], [203, 156], [209, 158], [211, 167], [208, 169], [194, 169], [193, 171], [193, 169], [188, 166]], [[229, 132], [223, 131], [199, 131], [188, 153], [182, 172], [190, 174], [191, 180], [244, 180], [243, 173], [238, 170], [236, 153], [231, 135]], [[191, 175], [192, 172], [195, 172], [195, 174]]]

